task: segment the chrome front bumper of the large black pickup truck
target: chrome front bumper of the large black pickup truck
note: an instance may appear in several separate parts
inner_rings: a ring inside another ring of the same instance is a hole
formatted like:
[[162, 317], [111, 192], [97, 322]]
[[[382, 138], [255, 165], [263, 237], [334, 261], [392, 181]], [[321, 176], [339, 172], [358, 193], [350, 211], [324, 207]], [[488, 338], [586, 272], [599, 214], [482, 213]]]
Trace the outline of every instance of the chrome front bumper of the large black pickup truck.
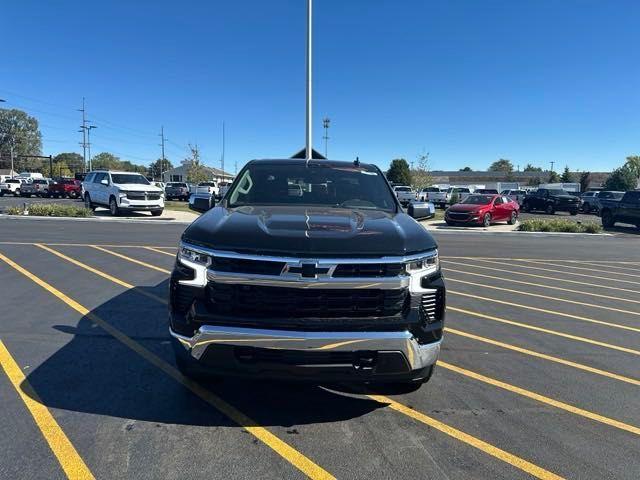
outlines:
[[391, 332], [300, 332], [262, 330], [223, 326], [201, 326], [193, 337], [170, 334], [195, 360], [209, 348], [256, 347], [298, 352], [401, 353], [409, 371], [433, 365], [440, 353], [441, 341], [421, 345], [409, 331]]

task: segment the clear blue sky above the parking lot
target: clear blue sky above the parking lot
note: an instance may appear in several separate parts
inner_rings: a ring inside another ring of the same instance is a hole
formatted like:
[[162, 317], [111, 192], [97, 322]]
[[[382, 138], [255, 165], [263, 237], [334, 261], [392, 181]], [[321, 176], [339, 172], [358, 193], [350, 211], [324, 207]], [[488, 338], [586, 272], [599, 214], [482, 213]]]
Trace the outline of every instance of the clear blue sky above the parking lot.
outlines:
[[[5, 2], [0, 98], [42, 124], [46, 154], [226, 167], [304, 143], [304, 0]], [[316, 0], [314, 135], [329, 156], [429, 152], [432, 169], [612, 169], [640, 154], [637, 0]]]

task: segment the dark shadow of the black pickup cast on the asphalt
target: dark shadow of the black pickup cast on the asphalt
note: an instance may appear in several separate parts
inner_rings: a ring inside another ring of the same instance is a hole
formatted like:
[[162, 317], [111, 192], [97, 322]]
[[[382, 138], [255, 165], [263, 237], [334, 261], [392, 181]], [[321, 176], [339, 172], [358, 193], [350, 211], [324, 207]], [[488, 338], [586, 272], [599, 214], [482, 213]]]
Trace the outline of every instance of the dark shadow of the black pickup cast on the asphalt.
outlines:
[[[138, 289], [165, 297], [167, 281]], [[165, 306], [129, 290], [91, 313], [174, 365]], [[157, 423], [235, 425], [86, 316], [77, 325], [52, 328], [70, 341], [27, 377], [47, 407]], [[342, 421], [384, 406], [318, 385], [232, 379], [201, 384], [261, 426]]]

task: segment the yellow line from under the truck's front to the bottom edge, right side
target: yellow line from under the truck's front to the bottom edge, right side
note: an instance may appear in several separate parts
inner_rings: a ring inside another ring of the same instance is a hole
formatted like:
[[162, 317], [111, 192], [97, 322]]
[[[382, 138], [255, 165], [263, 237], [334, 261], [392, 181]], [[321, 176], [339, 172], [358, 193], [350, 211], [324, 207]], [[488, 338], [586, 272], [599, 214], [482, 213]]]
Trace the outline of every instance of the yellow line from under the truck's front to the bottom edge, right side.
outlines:
[[456, 440], [459, 440], [461, 442], [466, 443], [467, 445], [475, 447], [478, 450], [488, 455], [491, 455], [492, 457], [495, 457], [499, 460], [502, 460], [503, 462], [506, 462], [509, 465], [512, 465], [517, 469], [522, 470], [523, 472], [526, 472], [529, 475], [532, 475], [536, 478], [540, 478], [543, 480], [559, 480], [562, 478], [556, 475], [555, 473], [550, 472], [549, 470], [545, 470], [542, 467], [539, 467], [531, 462], [528, 462], [498, 447], [495, 447], [483, 440], [480, 440], [479, 438], [476, 438], [472, 435], [469, 435], [468, 433], [465, 433], [456, 428], [453, 428], [447, 425], [446, 423], [442, 423], [439, 420], [436, 420], [435, 418], [429, 417], [424, 413], [413, 410], [412, 408], [407, 407], [406, 405], [403, 405], [395, 400], [392, 400], [389, 397], [385, 397], [382, 395], [367, 395], [367, 396], [379, 403], [387, 404], [389, 408], [395, 410], [396, 412], [402, 413], [403, 415], [411, 417], [414, 420], [417, 420], [421, 423], [424, 423], [425, 425], [435, 428], [436, 430], [439, 430], [442, 433], [445, 433], [450, 437], [455, 438]]

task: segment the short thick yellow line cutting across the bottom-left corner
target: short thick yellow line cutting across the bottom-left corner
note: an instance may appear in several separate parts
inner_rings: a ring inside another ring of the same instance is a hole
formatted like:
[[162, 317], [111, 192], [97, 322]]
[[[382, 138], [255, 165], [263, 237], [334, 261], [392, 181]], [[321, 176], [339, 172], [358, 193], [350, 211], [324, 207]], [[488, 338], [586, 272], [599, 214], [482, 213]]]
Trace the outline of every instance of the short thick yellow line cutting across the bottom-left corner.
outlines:
[[53, 418], [49, 409], [44, 406], [37, 392], [25, 378], [22, 369], [13, 359], [2, 340], [0, 340], [0, 365], [2, 365], [2, 369], [9, 377], [11, 385], [13, 385], [13, 388], [15, 388], [29, 410], [67, 478], [78, 480], [94, 478], [91, 470], [84, 463], [84, 460], [82, 460], [69, 438], [60, 428], [56, 419]]

